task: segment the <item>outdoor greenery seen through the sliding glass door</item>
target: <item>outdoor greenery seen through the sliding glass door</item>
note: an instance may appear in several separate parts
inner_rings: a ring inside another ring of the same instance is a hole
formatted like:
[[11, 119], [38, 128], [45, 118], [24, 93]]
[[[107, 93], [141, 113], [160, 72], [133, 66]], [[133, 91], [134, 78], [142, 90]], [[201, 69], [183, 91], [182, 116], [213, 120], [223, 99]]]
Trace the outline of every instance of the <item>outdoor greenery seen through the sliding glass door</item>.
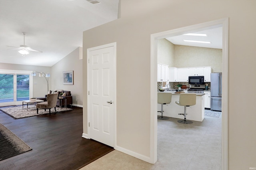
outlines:
[[[16, 83], [14, 83], [15, 79]], [[14, 85], [16, 85], [16, 87], [14, 87]], [[29, 75], [0, 74], [0, 103], [28, 99]]]

